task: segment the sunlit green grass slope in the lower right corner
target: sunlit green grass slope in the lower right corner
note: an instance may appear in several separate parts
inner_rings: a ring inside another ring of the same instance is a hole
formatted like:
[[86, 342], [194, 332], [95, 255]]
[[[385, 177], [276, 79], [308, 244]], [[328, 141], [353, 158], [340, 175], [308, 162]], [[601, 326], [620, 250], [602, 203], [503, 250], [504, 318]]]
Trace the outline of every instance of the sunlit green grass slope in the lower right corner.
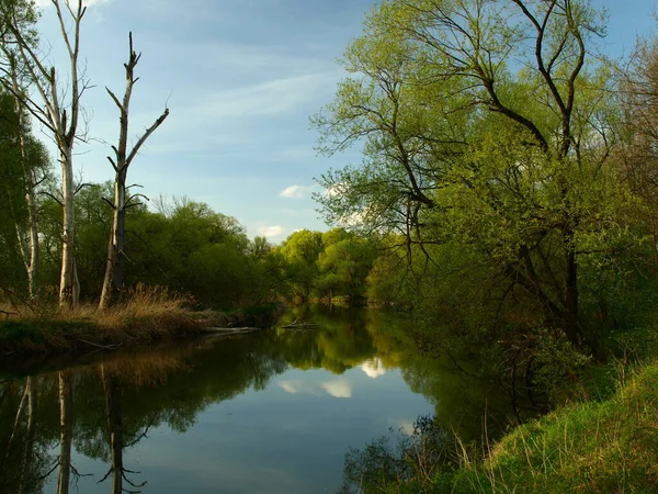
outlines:
[[658, 492], [658, 363], [608, 400], [514, 429], [484, 463], [449, 475], [436, 491], [450, 483], [455, 493]]

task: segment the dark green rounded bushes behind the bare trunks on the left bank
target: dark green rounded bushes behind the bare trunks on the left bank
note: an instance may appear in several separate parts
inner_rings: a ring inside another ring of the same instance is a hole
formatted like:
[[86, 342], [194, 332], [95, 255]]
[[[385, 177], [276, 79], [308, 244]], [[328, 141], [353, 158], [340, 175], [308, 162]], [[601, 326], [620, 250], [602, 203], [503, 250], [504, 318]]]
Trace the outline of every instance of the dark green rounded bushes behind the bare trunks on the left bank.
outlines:
[[[105, 269], [112, 184], [91, 186], [76, 198], [78, 276], [84, 297], [97, 300]], [[43, 206], [44, 279], [59, 276], [60, 207]], [[193, 296], [200, 306], [231, 310], [277, 300], [283, 261], [264, 238], [249, 240], [234, 218], [207, 204], [179, 201], [168, 214], [144, 206], [126, 211], [125, 284], [166, 287]]]

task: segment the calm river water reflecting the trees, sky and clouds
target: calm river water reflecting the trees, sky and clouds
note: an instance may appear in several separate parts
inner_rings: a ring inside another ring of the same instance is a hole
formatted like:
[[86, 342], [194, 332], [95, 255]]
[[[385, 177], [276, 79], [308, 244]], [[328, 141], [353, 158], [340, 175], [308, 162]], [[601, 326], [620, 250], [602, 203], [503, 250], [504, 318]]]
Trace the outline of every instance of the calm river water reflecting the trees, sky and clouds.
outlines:
[[122, 472], [123, 487], [143, 493], [336, 492], [350, 448], [410, 430], [420, 415], [436, 415], [466, 440], [479, 438], [485, 409], [504, 422], [496, 386], [451, 359], [417, 356], [399, 321], [304, 311], [284, 321], [318, 330], [20, 362], [22, 370], [3, 362], [0, 491], [56, 493], [70, 442], [71, 493], [111, 493]]

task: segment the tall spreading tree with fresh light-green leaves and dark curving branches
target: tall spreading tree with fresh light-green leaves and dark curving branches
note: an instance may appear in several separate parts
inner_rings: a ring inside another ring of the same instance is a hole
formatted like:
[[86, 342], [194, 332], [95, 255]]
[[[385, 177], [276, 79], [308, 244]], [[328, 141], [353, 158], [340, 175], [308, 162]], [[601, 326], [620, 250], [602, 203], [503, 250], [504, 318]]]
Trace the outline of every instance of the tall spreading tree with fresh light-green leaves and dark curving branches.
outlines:
[[382, 3], [316, 120], [328, 153], [365, 138], [363, 168], [321, 180], [329, 217], [475, 247], [497, 296], [523, 293], [581, 343], [578, 256], [623, 229], [602, 25], [588, 0]]

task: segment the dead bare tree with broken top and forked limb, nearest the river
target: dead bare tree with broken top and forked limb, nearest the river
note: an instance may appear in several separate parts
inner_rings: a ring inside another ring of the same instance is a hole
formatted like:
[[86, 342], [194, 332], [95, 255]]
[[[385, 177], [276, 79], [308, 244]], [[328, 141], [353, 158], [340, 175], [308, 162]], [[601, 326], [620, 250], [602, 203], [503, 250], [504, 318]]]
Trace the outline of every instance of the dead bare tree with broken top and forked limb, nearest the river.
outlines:
[[121, 116], [118, 146], [112, 146], [112, 149], [114, 150], [114, 158], [107, 157], [115, 172], [114, 201], [111, 203], [111, 206], [114, 210], [114, 215], [112, 221], [112, 231], [110, 233], [105, 278], [103, 280], [103, 290], [101, 292], [101, 300], [99, 302], [99, 308], [101, 310], [106, 308], [111, 304], [113, 296], [115, 297], [123, 288], [125, 214], [126, 210], [139, 204], [137, 198], [141, 197], [141, 194], [129, 194], [129, 188], [135, 186], [126, 187], [128, 167], [133, 162], [133, 159], [146, 139], [162, 124], [162, 122], [164, 122], [167, 116], [169, 116], [169, 109], [166, 108], [162, 114], [152, 123], [150, 127], [145, 131], [141, 137], [139, 137], [133, 149], [129, 153], [127, 151], [131, 97], [133, 96], [133, 87], [135, 82], [139, 80], [138, 77], [135, 77], [135, 67], [141, 57], [141, 54], [137, 54], [133, 49], [133, 33], [129, 33], [128, 40], [129, 55], [128, 61], [124, 64], [124, 68], [126, 70], [126, 90], [123, 101], [120, 101], [109, 88], [105, 88], [112, 98], [112, 101], [114, 101], [118, 108]]

